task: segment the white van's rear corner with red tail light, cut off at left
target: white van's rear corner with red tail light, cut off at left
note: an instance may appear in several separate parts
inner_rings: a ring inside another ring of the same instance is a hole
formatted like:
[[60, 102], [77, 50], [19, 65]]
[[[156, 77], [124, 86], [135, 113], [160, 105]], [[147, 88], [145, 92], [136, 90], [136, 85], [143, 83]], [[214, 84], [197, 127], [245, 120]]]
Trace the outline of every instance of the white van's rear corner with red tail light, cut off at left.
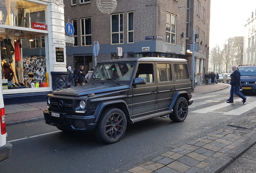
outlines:
[[4, 99], [2, 89], [0, 89], [0, 161], [10, 157], [12, 151], [12, 144], [6, 143], [6, 123], [4, 114]]

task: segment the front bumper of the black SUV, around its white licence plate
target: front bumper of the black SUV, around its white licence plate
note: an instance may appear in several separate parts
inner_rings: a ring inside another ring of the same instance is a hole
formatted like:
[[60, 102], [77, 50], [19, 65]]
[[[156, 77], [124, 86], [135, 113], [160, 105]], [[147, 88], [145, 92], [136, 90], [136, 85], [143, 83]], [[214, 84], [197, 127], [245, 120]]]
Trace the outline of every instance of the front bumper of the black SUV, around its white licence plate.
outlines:
[[[54, 117], [52, 113], [58, 113], [60, 117]], [[94, 123], [95, 117], [93, 115], [70, 115], [45, 109], [43, 116], [46, 124], [72, 131], [93, 131], [97, 125]]]

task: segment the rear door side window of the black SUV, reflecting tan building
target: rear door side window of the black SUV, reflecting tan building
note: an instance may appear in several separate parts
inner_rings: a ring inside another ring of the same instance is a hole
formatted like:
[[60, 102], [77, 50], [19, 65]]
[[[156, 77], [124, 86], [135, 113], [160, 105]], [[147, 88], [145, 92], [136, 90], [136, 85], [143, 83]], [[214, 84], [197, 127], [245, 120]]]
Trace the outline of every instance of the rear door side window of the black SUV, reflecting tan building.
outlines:
[[159, 82], [172, 80], [170, 64], [157, 64], [157, 80]]

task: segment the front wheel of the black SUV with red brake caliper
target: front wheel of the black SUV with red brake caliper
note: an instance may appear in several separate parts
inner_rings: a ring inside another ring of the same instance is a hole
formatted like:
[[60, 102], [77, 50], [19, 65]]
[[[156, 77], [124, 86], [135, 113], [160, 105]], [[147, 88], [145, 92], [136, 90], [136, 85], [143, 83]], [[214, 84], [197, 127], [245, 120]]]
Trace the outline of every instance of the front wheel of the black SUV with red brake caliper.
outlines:
[[99, 119], [95, 136], [105, 143], [116, 143], [124, 136], [127, 121], [123, 111], [118, 108], [107, 109]]

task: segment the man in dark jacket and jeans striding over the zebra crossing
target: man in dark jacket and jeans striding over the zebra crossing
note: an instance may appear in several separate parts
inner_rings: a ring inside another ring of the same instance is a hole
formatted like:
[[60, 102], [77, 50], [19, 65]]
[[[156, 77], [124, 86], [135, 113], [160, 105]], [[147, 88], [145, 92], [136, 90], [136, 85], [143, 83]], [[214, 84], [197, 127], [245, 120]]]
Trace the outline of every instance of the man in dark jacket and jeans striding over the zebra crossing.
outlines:
[[233, 73], [230, 75], [231, 76], [231, 89], [230, 89], [230, 98], [227, 103], [234, 103], [234, 93], [243, 99], [243, 104], [246, 102], [246, 97], [239, 91], [240, 89], [240, 72], [237, 69], [237, 66], [232, 66]]

